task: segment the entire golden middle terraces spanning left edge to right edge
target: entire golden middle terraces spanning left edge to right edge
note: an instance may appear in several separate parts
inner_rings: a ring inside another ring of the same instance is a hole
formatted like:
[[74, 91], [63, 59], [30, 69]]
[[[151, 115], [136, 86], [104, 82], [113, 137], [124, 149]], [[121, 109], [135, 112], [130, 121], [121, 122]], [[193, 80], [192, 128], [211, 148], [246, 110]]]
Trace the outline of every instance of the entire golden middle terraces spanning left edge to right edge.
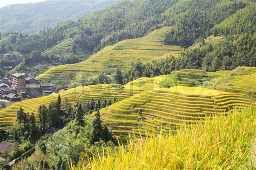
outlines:
[[[77, 87], [60, 93], [60, 96], [62, 102], [71, 104], [77, 100], [108, 100], [115, 96], [118, 102], [102, 108], [100, 114], [102, 121], [116, 135], [157, 132], [161, 128], [167, 132], [170, 126], [175, 130], [177, 125], [193, 125], [204, 121], [207, 116], [226, 114], [234, 107], [255, 105], [255, 76], [256, 68], [252, 67], [215, 73], [182, 69], [171, 75], [142, 77], [124, 86], [98, 84]], [[235, 88], [237, 86], [240, 88]], [[33, 98], [1, 110], [0, 127], [12, 126], [20, 107], [37, 114], [40, 105], [48, 106], [57, 97], [58, 94]]]

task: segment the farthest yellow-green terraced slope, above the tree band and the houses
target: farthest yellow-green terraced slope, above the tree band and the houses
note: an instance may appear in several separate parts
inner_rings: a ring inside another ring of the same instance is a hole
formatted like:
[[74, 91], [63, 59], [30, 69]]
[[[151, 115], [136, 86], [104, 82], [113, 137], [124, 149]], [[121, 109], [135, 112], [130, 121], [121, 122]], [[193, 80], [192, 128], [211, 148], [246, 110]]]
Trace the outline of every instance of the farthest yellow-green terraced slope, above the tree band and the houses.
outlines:
[[37, 78], [54, 84], [67, 85], [70, 81], [80, 82], [102, 71], [127, 69], [132, 62], [145, 63], [158, 59], [166, 53], [180, 51], [180, 46], [164, 45], [164, 36], [169, 30], [170, 27], [163, 27], [143, 38], [120, 41], [116, 45], [105, 47], [83, 62], [53, 67]]

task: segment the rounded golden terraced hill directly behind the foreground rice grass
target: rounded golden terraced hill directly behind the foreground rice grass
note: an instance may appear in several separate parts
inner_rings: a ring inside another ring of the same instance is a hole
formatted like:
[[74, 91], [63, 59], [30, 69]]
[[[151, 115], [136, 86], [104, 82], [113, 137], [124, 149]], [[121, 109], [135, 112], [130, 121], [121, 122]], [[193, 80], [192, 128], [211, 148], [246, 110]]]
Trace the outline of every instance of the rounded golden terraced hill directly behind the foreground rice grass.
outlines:
[[192, 125], [204, 121], [206, 116], [226, 114], [232, 108], [255, 105], [243, 94], [206, 89], [202, 87], [174, 86], [154, 88], [126, 98], [109, 108], [100, 110], [102, 120], [112, 125], [114, 134], [128, 134], [166, 129], [177, 125]]

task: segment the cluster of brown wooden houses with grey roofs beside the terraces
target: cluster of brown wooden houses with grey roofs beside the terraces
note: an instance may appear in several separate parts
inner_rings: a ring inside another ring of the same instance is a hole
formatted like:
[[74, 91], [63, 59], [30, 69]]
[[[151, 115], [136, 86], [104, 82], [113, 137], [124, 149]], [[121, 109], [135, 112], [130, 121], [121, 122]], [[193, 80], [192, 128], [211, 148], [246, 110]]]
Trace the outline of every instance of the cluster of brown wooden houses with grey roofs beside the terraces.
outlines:
[[56, 86], [51, 83], [40, 83], [26, 73], [12, 74], [12, 81], [0, 79], [0, 99], [21, 101], [24, 96], [43, 96], [55, 93]]

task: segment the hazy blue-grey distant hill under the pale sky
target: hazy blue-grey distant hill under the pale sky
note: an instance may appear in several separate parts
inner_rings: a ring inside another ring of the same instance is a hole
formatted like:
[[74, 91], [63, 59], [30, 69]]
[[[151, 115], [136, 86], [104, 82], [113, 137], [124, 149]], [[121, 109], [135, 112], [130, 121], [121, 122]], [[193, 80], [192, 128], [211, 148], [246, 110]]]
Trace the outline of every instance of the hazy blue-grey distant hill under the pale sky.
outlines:
[[55, 0], [16, 4], [0, 9], [0, 32], [29, 34], [59, 22], [79, 18], [120, 0]]

